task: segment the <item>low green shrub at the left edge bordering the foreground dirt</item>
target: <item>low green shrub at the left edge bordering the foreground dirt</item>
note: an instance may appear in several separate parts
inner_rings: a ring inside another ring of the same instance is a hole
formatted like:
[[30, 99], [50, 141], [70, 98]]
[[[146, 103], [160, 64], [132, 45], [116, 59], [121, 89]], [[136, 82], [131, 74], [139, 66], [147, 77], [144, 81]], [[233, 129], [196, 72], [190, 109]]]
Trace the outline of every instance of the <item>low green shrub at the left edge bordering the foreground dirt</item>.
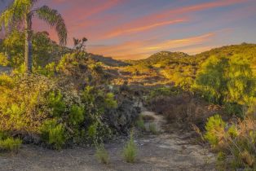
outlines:
[[20, 138], [5, 138], [0, 140], [0, 151], [18, 151], [22, 141]]

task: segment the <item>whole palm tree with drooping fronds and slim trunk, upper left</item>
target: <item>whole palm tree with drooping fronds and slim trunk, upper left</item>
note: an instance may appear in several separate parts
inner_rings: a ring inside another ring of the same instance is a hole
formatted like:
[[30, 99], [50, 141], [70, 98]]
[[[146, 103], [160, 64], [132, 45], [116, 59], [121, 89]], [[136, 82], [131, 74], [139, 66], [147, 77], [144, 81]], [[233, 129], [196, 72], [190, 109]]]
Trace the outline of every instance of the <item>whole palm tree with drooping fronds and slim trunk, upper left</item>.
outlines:
[[4, 26], [12, 29], [21, 27], [25, 32], [25, 49], [24, 49], [24, 64], [27, 72], [32, 72], [32, 19], [37, 16], [39, 19], [46, 21], [58, 33], [60, 45], [64, 46], [67, 43], [67, 29], [64, 19], [60, 13], [50, 7], [43, 6], [33, 8], [33, 5], [38, 0], [14, 0], [6, 11], [0, 15], [0, 28]]

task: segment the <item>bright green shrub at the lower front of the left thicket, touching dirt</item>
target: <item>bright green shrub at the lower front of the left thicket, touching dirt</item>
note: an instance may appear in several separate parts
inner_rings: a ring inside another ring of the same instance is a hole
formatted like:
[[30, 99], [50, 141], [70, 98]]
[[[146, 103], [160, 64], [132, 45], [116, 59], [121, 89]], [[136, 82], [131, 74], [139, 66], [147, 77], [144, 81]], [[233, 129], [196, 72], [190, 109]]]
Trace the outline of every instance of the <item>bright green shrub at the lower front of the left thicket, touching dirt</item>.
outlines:
[[60, 150], [66, 142], [65, 129], [63, 124], [58, 124], [55, 119], [46, 120], [40, 129], [42, 140]]

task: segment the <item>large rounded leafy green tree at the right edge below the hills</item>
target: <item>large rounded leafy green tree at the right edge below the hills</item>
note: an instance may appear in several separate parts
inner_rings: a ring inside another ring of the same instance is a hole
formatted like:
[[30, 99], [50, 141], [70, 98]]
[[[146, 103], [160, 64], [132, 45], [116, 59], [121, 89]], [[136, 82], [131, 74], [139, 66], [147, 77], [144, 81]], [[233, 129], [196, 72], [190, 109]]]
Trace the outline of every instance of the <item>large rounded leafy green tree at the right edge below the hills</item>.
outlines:
[[211, 56], [197, 73], [194, 88], [208, 101], [225, 104], [228, 113], [243, 116], [242, 106], [255, 97], [256, 79], [248, 61]]

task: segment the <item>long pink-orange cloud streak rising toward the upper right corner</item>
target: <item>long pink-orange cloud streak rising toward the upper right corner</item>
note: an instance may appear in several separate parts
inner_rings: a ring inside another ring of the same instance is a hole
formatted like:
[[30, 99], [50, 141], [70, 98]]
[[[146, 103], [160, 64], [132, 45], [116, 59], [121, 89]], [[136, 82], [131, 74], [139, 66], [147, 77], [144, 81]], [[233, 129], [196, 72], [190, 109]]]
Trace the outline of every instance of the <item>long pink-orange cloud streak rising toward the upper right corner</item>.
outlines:
[[217, 2], [205, 2], [188, 7], [180, 7], [176, 9], [170, 9], [167, 11], [161, 11], [155, 14], [144, 16], [138, 20], [132, 20], [130, 23], [126, 23], [106, 33], [101, 38], [112, 38], [129, 33], [139, 33], [148, 29], [155, 29], [167, 24], [177, 24], [187, 21], [187, 19], [175, 20], [177, 15], [185, 15], [194, 11], [203, 11], [214, 7], [226, 7], [236, 3], [246, 2], [247, 0], [222, 0]]

